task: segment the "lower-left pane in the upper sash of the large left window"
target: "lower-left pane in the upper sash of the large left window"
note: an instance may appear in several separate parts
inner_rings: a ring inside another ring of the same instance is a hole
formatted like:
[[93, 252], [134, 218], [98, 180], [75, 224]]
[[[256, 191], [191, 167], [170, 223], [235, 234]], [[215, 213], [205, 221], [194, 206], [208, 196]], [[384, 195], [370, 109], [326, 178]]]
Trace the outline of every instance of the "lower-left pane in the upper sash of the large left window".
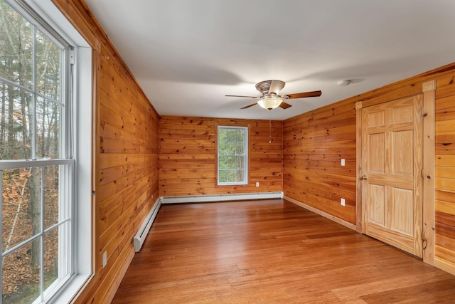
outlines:
[[0, 159], [31, 159], [32, 96], [0, 82]]

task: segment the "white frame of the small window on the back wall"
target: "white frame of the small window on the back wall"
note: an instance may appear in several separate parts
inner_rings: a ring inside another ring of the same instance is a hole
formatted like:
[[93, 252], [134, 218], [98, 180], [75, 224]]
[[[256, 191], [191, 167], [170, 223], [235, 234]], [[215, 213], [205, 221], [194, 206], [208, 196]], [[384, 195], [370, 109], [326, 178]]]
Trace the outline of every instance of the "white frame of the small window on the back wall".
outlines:
[[[228, 155], [227, 156], [243, 156], [244, 157], [244, 164], [243, 164], [243, 171], [244, 171], [244, 180], [241, 182], [220, 182], [220, 130], [242, 130], [244, 132], [244, 153], [243, 154], [235, 154], [235, 155]], [[250, 164], [250, 149], [249, 149], [249, 127], [247, 126], [230, 126], [230, 125], [218, 125], [217, 126], [217, 142], [216, 142], [216, 180], [217, 186], [241, 186], [247, 185], [250, 177], [249, 177], [249, 164]]]

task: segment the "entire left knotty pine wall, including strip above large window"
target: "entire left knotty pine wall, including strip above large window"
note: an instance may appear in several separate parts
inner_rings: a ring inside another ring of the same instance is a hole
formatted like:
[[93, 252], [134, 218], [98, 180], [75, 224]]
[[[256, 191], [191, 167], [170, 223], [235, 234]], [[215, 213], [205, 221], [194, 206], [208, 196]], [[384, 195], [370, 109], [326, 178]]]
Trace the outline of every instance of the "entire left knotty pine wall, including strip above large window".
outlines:
[[94, 62], [95, 276], [77, 303], [109, 303], [134, 256], [132, 239], [158, 199], [159, 115], [87, 6], [54, 1], [92, 46]]

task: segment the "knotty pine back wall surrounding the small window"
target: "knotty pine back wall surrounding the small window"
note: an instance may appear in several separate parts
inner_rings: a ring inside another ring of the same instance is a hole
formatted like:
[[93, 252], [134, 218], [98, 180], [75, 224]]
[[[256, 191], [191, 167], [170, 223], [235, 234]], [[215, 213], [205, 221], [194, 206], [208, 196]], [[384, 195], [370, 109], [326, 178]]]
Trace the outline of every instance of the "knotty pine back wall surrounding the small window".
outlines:
[[[249, 126], [247, 185], [217, 186], [218, 125]], [[256, 187], [259, 182], [259, 187]], [[282, 191], [282, 122], [163, 116], [159, 122], [160, 196]]]

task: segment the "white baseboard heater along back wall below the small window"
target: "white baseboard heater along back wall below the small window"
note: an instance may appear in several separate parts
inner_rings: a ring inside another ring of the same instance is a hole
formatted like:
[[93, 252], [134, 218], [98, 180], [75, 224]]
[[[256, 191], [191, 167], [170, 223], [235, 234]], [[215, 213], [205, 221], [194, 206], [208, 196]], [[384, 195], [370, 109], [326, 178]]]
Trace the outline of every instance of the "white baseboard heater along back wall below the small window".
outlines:
[[282, 199], [283, 192], [257, 192], [242, 194], [210, 194], [193, 196], [162, 196], [162, 204], [204, 203], [210, 201], [243, 201], [247, 199]]

